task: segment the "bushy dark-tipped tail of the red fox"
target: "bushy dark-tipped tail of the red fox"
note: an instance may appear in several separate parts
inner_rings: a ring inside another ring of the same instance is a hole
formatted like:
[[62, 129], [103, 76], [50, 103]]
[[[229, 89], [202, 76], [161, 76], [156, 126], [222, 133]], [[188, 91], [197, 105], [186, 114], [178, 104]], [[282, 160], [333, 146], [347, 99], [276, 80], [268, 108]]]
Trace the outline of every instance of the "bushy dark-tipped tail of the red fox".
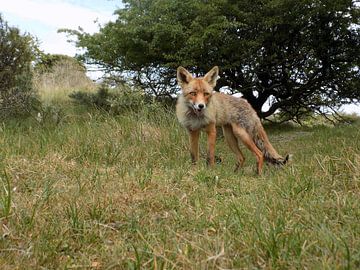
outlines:
[[280, 156], [271, 145], [268, 136], [262, 126], [259, 126], [253, 134], [253, 140], [256, 146], [263, 152], [265, 161], [274, 165], [285, 165], [290, 161], [291, 155]]

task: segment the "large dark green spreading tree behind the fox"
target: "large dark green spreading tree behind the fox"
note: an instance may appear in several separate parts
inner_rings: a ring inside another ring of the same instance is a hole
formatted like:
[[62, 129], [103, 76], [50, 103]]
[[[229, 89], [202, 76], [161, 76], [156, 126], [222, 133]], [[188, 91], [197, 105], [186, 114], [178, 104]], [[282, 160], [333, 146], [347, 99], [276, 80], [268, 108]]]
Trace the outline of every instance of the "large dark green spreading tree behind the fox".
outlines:
[[[87, 63], [171, 95], [175, 69], [221, 68], [262, 118], [360, 100], [359, 8], [352, 0], [127, 0], [93, 35], [65, 30]], [[267, 111], [263, 105], [271, 100]]]

